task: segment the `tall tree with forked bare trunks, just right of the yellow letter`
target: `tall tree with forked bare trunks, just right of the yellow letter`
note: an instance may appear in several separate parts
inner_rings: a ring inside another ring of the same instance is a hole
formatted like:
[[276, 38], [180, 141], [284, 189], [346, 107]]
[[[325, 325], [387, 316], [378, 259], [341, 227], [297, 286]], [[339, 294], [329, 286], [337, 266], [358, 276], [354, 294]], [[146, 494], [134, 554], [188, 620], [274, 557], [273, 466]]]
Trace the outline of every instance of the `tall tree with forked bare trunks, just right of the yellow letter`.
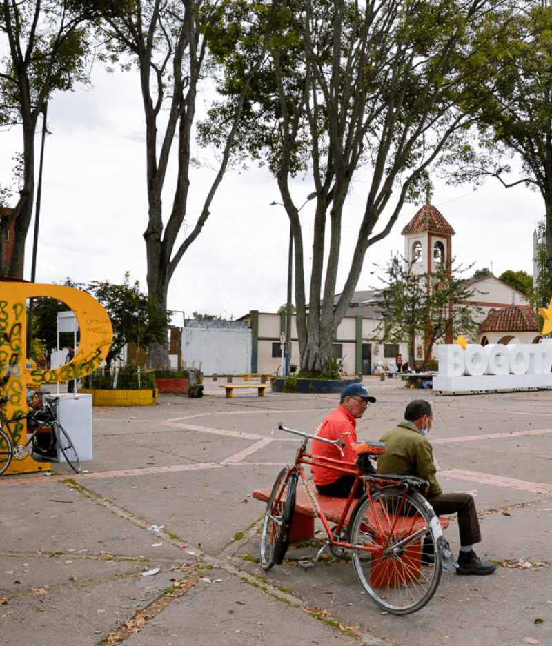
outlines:
[[[253, 7], [253, 6], [252, 6]], [[146, 117], [146, 181], [148, 226], [144, 232], [148, 263], [148, 294], [159, 310], [166, 311], [170, 279], [186, 250], [203, 228], [215, 192], [230, 163], [233, 138], [239, 124], [250, 79], [264, 61], [265, 32], [270, 30], [268, 11], [262, 22], [242, 27], [258, 45], [253, 59], [242, 60], [243, 84], [229, 115], [230, 128], [221, 146], [215, 178], [207, 191], [195, 223], [189, 223], [191, 142], [197, 94], [206, 74], [213, 73], [219, 57], [226, 55], [224, 38], [237, 19], [236, 7], [224, 1], [141, 0], [123, 18], [109, 21], [108, 49], [115, 56], [130, 52], [139, 68]], [[211, 50], [210, 50], [211, 49]], [[177, 181], [170, 213], [164, 212], [164, 189], [170, 152], [177, 148]], [[179, 241], [184, 223], [189, 233]], [[168, 344], [152, 343], [150, 361], [168, 368]]]

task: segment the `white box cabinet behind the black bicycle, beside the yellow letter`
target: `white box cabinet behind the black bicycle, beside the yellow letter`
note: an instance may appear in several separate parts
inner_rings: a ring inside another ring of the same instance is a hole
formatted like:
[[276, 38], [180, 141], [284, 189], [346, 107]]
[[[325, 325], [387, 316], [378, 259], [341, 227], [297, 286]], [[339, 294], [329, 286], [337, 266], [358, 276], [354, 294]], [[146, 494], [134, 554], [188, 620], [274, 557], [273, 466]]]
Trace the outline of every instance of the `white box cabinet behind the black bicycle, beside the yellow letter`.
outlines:
[[[54, 396], [45, 396], [52, 403]], [[81, 462], [92, 460], [92, 395], [63, 394], [52, 404], [61, 426], [68, 434]], [[61, 451], [57, 450], [57, 462], [65, 462]]]

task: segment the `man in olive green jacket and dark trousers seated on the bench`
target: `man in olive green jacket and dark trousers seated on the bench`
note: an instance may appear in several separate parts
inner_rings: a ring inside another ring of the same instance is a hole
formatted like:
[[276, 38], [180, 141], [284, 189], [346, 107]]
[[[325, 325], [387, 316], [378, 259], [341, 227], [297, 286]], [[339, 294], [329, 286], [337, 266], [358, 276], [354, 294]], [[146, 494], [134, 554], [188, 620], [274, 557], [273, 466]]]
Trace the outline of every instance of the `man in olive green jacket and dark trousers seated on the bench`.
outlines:
[[470, 494], [444, 494], [437, 478], [433, 450], [425, 438], [431, 430], [433, 412], [431, 404], [423, 399], [411, 401], [406, 406], [404, 421], [397, 428], [386, 432], [381, 441], [387, 445], [387, 451], [377, 460], [377, 472], [380, 474], [397, 474], [417, 476], [428, 481], [427, 501], [435, 514], [458, 514], [460, 530], [460, 555], [458, 556], [458, 574], [492, 574], [496, 565], [483, 561], [473, 551], [473, 544], [481, 541], [479, 520], [475, 502]]

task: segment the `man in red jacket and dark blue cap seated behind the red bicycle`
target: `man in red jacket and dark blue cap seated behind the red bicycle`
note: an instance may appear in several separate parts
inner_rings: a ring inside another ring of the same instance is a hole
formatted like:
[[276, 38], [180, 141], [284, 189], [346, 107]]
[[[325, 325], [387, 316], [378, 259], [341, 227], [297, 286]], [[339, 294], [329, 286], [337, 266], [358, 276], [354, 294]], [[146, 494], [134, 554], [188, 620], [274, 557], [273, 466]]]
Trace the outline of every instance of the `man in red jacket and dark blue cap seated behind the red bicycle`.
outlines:
[[[368, 395], [368, 391], [362, 383], [353, 383], [345, 387], [339, 406], [322, 421], [316, 430], [318, 437], [328, 440], [342, 439], [345, 443], [345, 446], [342, 447], [344, 455], [335, 445], [313, 440], [313, 456], [333, 458], [354, 465], [357, 455], [351, 449], [351, 444], [357, 441], [357, 419], [364, 415], [368, 402], [375, 402], [375, 397]], [[319, 494], [334, 498], [348, 498], [355, 483], [353, 465], [351, 466], [351, 475], [340, 475], [339, 472], [331, 468], [311, 465], [311, 472]], [[364, 483], [361, 481], [355, 491], [355, 498], [359, 498], [363, 493]]]

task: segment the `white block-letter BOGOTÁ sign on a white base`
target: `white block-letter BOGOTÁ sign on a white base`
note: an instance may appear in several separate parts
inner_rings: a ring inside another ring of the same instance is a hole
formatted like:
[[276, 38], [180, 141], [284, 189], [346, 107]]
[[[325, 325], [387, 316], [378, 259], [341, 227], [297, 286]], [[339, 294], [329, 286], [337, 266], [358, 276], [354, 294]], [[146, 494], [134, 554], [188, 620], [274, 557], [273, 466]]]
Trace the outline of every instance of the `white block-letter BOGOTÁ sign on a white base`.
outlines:
[[540, 343], [439, 346], [433, 390], [509, 390], [552, 387], [552, 339]]

